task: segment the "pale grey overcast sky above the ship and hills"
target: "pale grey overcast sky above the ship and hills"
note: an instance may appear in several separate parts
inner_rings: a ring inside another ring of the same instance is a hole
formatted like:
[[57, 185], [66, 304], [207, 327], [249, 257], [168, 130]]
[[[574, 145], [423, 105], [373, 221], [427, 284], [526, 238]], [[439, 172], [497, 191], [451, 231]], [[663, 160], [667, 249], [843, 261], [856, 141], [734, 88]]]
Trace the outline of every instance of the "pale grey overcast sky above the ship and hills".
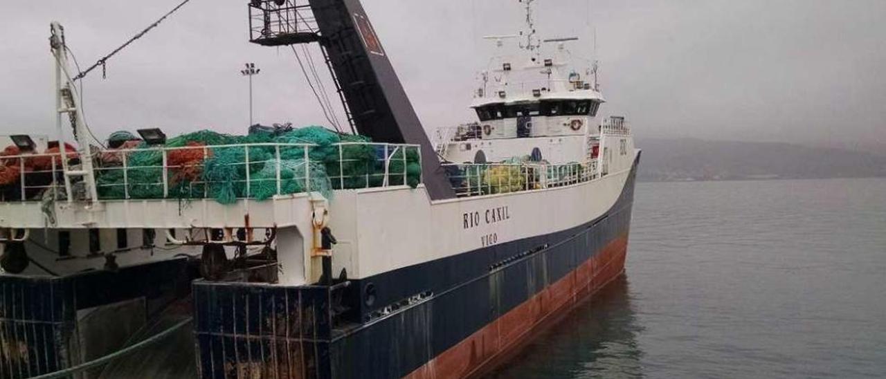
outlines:
[[[3, 1], [0, 134], [53, 133], [51, 20], [89, 66], [177, 3]], [[243, 133], [248, 87], [238, 71], [247, 61], [262, 70], [257, 121], [328, 124], [291, 51], [247, 42], [245, 3], [192, 0], [113, 58], [106, 80], [90, 74], [90, 127], [102, 136], [153, 126]], [[517, 0], [363, 3], [425, 128], [473, 120], [471, 90], [492, 50], [480, 37], [516, 31]], [[602, 112], [626, 115], [636, 135], [886, 145], [886, 1], [537, 4], [540, 34], [579, 35], [573, 50], [590, 55], [596, 29]]]

